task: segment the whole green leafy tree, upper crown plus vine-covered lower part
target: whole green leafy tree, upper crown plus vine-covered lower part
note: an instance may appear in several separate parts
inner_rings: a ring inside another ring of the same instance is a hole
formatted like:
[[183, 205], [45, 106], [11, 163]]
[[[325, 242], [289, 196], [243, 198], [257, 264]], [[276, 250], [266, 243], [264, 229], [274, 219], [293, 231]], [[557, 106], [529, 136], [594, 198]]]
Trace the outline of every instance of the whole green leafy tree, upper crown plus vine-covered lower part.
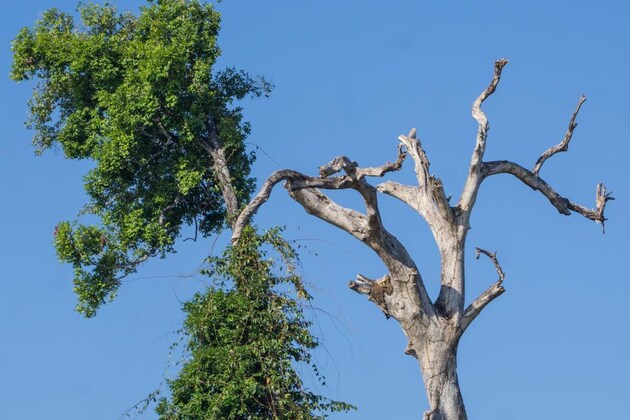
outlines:
[[[60, 147], [94, 163], [84, 178], [89, 202], [54, 239], [74, 267], [77, 310], [92, 317], [143, 261], [174, 252], [183, 228], [207, 237], [233, 225], [254, 187], [249, 126], [236, 102], [270, 85], [213, 68], [220, 17], [209, 4], [149, 0], [138, 15], [82, 4], [78, 12], [75, 21], [50, 9], [22, 29], [11, 77], [37, 81], [27, 121], [36, 152]], [[294, 273], [273, 274], [261, 247], [295, 255], [277, 232], [248, 232], [213, 262], [209, 274], [227, 281], [185, 305], [190, 358], [170, 382], [172, 401], [159, 405], [164, 418], [312, 418], [349, 408], [303, 388], [294, 364], [308, 364], [317, 342], [298, 302], [277, 286], [308, 295]]]

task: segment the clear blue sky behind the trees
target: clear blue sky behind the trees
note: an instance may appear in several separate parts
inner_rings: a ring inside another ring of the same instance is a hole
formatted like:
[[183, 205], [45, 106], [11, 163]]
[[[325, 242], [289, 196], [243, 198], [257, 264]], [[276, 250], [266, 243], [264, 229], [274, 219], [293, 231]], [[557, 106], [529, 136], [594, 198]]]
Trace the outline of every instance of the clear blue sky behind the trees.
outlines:
[[[142, 2], [117, 3], [135, 10]], [[85, 201], [81, 177], [89, 163], [54, 151], [33, 155], [22, 124], [30, 88], [8, 79], [10, 40], [53, 6], [73, 10], [75, 2], [16, 2], [0, 18], [1, 417], [115, 419], [176, 371], [168, 347], [181, 325], [180, 301], [203, 287], [195, 269], [225, 238], [185, 242], [173, 258], [142, 267], [95, 319], [73, 312], [71, 269], [57, 263], [51, 242], [55, 224]], [[541, 174], [588, 206], [605, 181], [617, 198], [606, 235], [582, 217], [559, 215], [513, 178], [484, 183], [468, 241], [468, 299], [496, 279], [489, 261], [474, 260], [474, 246], [498, 251], [507, 292], [464, 335], [459, 377], [471, 419], [628, 415], [627, 2], [231, 0], [218, 8], [222, 64], [276, 85], [270, 99], [245, 104], [250, 141], [265, 151], [259, 179], [278, 165], [315, 174], [339, 154], [379, 165], [395, 158], [397, 136], [417, 127], [433, 173], [458, 196], [476, 132], [470, 104], [494, 60], [510, 64], [485, 105], [488, 160], [531, 167], [562, 139], [586, 94], [570, 151]], [[407, 162], [402, 177], [411, 170]], [[383, 202], [386, 225], [435, 293], [431, 235], [411, 210]], [[303, 274], [315, 294], [311, 315], [325, 345], [318, 360], [329, 379], [321, 391], [360, 408], [335, 418], [420, 418], [424, 389], [415, 360], [403, 355], [400, 328], [346, 287], [359, 272], [384, 274], [375, 257], [304, 214], [281, 188], [257, 221], [286, 225], [308, 247]]]

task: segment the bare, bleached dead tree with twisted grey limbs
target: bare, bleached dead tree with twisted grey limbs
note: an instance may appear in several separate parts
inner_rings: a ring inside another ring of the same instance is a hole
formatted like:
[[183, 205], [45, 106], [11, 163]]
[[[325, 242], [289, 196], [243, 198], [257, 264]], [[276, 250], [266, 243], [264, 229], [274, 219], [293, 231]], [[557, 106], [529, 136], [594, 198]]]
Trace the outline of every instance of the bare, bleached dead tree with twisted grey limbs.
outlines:
[[[546, 150], [531, 170], [506, 160], [483, 160], [489, 124], [481, 105], [495, 91], [506, 64], [507, 60], [503, 59], [495, 63], [490, 85], [472, 105], [472, 116], [477, 120], [479, 128], [468, 176], [456, 204], [451, 205], [444, 194], [442, 181], [429, 172], [429, 160], [416, 137], [416, 130], [412, 129], [408, 135], [398, 137], [398, 159], [394, 163], [361, 168], [356, 162], [340, 156], [320, 167], [318, 177], [292, 170], [275, 172], [267, 179], [258, 195], [243, 209], [234, 226], [232, 240], [237, 241], [241, 229], [269, 198], [273, 187], [285, 181], [289, 195], [307, 213], [345, 230], [378, 255], [387, 273], [379, 279], [369, 279], [359, 274], [355, 281], [349, 283], [349, 287], [366, 295], [386, 316], [398, 321], [408, 337], [409, 344], [405, 353], [415, 357], [420, 364], [430, 404], [429, 411], [424, 414], [425, 420], [466, 419], [457, 380], [458, 342], [483, 308], [505, 291], [502, 284], [504, 273], [496, 255], [477, 248], [477, 258], [480, 254], [485, 254], [494, 263], [498, 280], [470, 305], [464, 305], [464, 249], [470, 229], [470, 215], [481, 183], [490, 176], [510, 174], [543, 194], [561, 214], [581, 214], [601, 223], [602, 228], [606, 220], [606, 203], [613, 199], [606, 192], [606, 187], [599, 184], [596, 189], [595, 209], [589, 209], [561, 196], [540, 177], [540, 170], [547, 159], [568, 149], [584, 97], [578, 102], [562, 142]], [[382, 177], [388, 172], [398, 171], [407, 156], [413, 160], [417, 185], [403, 185], [392, 181], [376, 186], [368, 183], [368, 177]], [[357, 191], [365, 202], [365, 213], [342, 207], [322, 192], [341, 189]], [[378, 193], [401, 200], [428, 223], [441, 257], [441, 289], [435, 301], [427, 294], [420, 271], [403, 244], [385, 228], [379, 212]]]

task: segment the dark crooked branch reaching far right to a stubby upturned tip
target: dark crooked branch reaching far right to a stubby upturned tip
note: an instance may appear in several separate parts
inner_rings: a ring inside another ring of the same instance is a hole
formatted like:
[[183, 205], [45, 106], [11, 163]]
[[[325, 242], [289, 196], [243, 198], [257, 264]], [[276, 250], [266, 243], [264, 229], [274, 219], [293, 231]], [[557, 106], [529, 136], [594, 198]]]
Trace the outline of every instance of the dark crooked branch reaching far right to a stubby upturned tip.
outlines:
[[604, 184], [597, 184], [595, 196], [596, 208], [593, 210], [582, 205], [575, 204], [571, 202], [568, 198], [561, 196], [542, 178], [534, 175], [532, 172], [523, 168], [517, 163], [506, 160], [499, 160], [494, 162], [487, 162], [483, 165], [484, 178], [502, 173], [514, 175], [516, 178], [520, 179], [523, 183], [525, 183], [533, 190], [540, 191], [545, 197], [547, 197], [549, 202], [556, 209], [558, 209], [560, 213], [569, 216], [571, 214], [571, 211], [574, 211], [586, 217], [587, 219], [601, 223], [603, 229], [604, 222], [606, 221], [606, 218], [604, 217], [606, 203], [610, 200], [614, 200], [614, 197], [612, 197], [612, 193], [606, 192], [606, 186]]

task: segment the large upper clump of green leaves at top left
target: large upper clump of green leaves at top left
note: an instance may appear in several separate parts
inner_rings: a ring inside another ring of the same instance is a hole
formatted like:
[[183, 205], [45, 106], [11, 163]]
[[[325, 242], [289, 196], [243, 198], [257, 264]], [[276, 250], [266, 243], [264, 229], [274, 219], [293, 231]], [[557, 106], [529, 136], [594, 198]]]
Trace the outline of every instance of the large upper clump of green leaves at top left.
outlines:
[[80, 21], [57, 9], [22, 29], [11, 77], [35, 80], [27, 126], [37, 153], [60, 147], [90, 159], [83, 214], [98, 223], [58, 226], [59, 258], [75, 268], [78, 310], [112, 297], [120, 278], [173, 252], [182, 226], [221, 229], [225, 208], [203, 146], [214, 126], [239, 204], [249, 197], [249, 127], [234, 101], [269, 85], [235, 69], [213, 70], [219, 14], [198, 0], [153, 0], [139, 15], [82, 4]]

